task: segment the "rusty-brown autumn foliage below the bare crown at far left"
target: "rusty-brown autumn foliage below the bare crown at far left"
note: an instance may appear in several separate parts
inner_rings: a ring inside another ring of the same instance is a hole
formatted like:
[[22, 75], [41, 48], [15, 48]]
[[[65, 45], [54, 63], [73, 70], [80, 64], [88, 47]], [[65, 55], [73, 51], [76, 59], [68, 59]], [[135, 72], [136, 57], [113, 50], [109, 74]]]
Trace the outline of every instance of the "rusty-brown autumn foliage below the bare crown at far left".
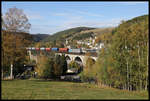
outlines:
[[[3, 67], [9, 67], [10, 64], [20, 64], [23, 67], [23, 64], [27, 62], [27, 52], [24, 47], [27, 47], [28, 44], [30, 44], [30, 41], [26, 40], [26, 36], [21, 34], [14, 35], [12, 32], [2, 31]], [[14, 74], [18, 72], [15, 69], [17, 69], [17, 67], [14, 68]]]

